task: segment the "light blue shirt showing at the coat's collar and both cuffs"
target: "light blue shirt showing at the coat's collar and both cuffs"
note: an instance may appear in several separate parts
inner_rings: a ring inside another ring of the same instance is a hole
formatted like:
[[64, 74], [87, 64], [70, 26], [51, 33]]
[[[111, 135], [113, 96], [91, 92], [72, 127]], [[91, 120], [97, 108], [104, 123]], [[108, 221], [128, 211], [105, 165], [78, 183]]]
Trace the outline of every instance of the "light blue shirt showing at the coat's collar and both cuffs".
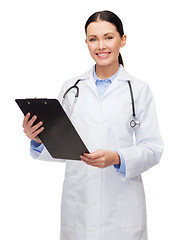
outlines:
[[[96, 75], [95, 67], [96, 67], [96, 65], [94, 66], [94, 69], [93, 69], [93, 77], [94, 77], [94, 80], [95, 80], [95, 84], [97, 86], [98, 95], [99, 95], [100, 98], [102, 98], [104, 93], [106, 92], [106, 90], [110, 86], [110, 84], [117, 77], [120, 67], [119, 67], [118, 71], [113, 76], [111, 76], [109, 79], [104, 79], [104, 80], [98, 78], [98, 76]], [[37, 156], [42, 152], [43, 149], [44, 149], [43, 144], [38, 144], [34, 140], [31, 140], [30, 154], [33, 158], [37, 158]], [[117, 172], [125, 174], [125, 172], [126, 172], [125, 160], [124, 160], [122, 154], [119, 151], [117, 151], [117, 153], [120, 156], [120, 162], [121, 163], [120, 163], [120, 165], [115, 164], [113, 166], [115, 167]]]

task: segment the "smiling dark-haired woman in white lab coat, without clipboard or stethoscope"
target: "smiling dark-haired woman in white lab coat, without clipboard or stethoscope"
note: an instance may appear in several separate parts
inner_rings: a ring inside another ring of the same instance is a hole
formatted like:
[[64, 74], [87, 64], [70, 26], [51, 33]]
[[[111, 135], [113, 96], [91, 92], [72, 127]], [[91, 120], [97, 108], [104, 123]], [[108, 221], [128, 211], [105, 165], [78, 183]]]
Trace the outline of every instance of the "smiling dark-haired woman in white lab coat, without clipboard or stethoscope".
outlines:
[[[163, 144], [155, 105], [146, 83], [127, 73], [120, 48], [126, 43], [121, 20], [110, 11], [94, 13], [85, 25], [86, 44], [96, 62], [64, 83], [59, 101], [90, 154], [82, 161], [53, 159], [37, 136], [42, 122], [24, 118], [36, 159], [66, 163], [61, 207], [61, 240], [147, 240], [141, 174], [160, 161]], [[78, 82], [79, 97], [74, 105]], [[132, 128], [131, 83], [140, 127]], [[39, 128], [39, 130], [38, 130]], [[133, 137], [134, 136], [134, 137]]]

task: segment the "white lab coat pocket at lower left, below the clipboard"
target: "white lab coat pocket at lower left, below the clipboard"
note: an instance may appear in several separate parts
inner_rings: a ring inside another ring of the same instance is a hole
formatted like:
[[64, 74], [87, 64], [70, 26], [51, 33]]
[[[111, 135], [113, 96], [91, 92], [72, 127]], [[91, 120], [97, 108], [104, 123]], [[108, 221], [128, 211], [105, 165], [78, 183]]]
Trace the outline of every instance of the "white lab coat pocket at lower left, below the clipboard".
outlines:
[[77, 176], [64, 179], [62, 203], [61, 203], [61, 224], [72, 227], [76, 216], [76, 191]]

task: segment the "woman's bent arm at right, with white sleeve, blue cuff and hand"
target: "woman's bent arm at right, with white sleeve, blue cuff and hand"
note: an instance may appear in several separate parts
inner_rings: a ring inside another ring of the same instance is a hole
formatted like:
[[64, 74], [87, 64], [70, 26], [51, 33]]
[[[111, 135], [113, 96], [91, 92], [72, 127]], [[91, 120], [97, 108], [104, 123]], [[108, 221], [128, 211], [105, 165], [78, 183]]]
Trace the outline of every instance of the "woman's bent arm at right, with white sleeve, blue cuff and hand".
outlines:
[[81, 159], [94, 167], [103, 168], [114, 165], [123, 179], [138, 176], [159, 163], [163, 143], [153, 96], [148, 86], [140, 94], [137, 110], [139, 110], [138, 118], [141, 121], [141, 127], [135, 131], [135, 146], [121, 148], [118, 152], [97, 150], [90, 154], [85, 153]]

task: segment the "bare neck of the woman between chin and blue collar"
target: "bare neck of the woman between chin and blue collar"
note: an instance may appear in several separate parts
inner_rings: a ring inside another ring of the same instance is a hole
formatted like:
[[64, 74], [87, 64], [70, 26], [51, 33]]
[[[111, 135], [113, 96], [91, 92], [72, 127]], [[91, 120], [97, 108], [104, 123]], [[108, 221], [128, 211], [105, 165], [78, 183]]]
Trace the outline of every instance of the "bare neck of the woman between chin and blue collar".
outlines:
[[107, 66], [100, 66], [96, 64], [96, 75], [100, 79], [108, 79], [113, 76], [119, 69], [119, 63], [115, 62], [114, 64]]

